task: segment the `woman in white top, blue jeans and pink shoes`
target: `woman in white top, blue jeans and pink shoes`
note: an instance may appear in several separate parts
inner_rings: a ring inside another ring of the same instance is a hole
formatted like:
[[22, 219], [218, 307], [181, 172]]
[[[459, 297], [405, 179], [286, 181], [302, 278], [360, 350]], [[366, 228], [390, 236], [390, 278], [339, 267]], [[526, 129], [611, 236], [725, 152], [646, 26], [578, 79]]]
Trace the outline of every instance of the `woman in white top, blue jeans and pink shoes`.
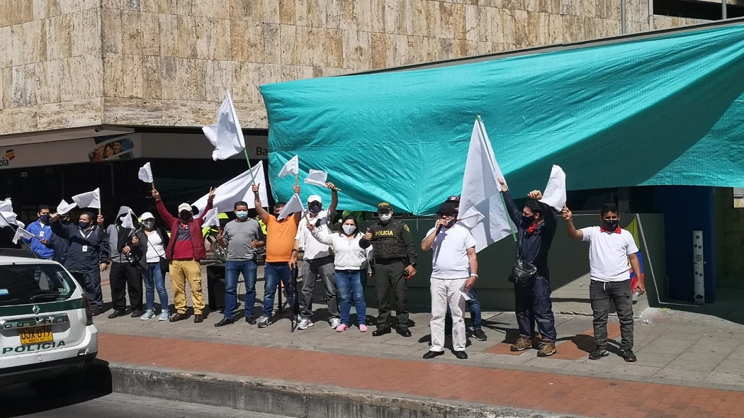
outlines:
[[362, 274], [367, 274], [368, 249], [359, 246], [359, 240], [364, 234], [359, 232], [356, 219], [353, 216], [344, 216], [341, 229], [338, 233], [328, 231], [326, 225], [315, 228], [308, 222], [307, 229], [312, 237], [318, 241], [333, 247], [335, 254], [333, 264], [336, 267], [336, 289], [339, 292], [339, 307], [341, 310], [341, 325], [336, 331], [344, 332], [349, 329], [349, 315], [351, 312], [351, 300], [356, 306], [356, 318], [359, 321], [359, 331], [366, 332], [367, 327], [367, 303], [365, 303], [365, 289], [362, 287]]

